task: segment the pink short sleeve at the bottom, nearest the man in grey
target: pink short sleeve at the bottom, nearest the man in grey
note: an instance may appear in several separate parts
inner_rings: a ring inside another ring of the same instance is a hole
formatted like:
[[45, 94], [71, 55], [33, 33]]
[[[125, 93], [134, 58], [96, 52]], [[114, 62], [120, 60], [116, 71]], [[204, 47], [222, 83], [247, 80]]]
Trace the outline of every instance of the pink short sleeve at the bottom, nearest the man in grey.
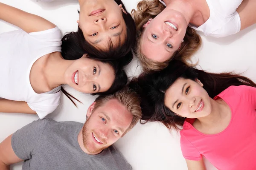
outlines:
[[183, 133], [180, 133], [180, 147], [185, 159], [199, 161], [202, 159], [201, 153], [192, 145]]

